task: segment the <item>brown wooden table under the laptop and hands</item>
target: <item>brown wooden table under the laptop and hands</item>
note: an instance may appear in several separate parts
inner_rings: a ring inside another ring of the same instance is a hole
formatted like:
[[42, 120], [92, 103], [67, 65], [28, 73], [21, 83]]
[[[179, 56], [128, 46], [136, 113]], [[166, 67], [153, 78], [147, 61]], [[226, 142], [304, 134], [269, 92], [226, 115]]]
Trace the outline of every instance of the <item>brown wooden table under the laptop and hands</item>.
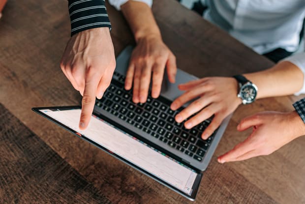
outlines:
[[[107, 8], [118, 55], [134, 40], [122, 14]], [[154, 0], [152, 10], [179, 68], [191, 74], [231, 76], [273, 65], [175, 0]], [[69, 34], [66, 0], [9, 0], [3, 11], [0, 203], [192, 203], [30, 110], [79, 104], [79, 93], [59, 67]], [[264, 110], [293, 110], [298, 98], [268, 98], [237, 109], [194, 203], [305, 203], [304, 137], [269, 156], [216, 162], [248, 136], [236, 131], [241, 118]]]

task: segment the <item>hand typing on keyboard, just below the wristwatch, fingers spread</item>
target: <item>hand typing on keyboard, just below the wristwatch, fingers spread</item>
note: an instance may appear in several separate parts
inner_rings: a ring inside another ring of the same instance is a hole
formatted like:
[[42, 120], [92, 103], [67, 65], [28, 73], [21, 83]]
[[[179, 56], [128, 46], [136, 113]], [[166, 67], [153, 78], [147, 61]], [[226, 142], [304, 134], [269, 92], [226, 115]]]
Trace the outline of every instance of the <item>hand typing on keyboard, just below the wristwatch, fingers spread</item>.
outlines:
[[183, 122], [197, 113], [184, 122], [185, 128], [190, 129], [214, 115], [212, 122], [201, 135], [204, 140], [242, 103], [237, 97], [238, 83], [234, 78], [203, 78], [179, 85], [179, 89], [185, 92], [173, 101], [172, 110], [177, 110], [186, 102], [199, 97], [175, 117], [177, 122]]

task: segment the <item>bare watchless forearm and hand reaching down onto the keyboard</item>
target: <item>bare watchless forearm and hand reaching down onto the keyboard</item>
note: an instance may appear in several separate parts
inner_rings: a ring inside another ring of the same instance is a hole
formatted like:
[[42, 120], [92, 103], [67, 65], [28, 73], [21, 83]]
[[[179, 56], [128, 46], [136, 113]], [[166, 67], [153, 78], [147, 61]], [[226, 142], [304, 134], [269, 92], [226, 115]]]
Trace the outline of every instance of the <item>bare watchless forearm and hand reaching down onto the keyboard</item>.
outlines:
[[148, 96], [151, 77], [152, 97], [159, 96], [165, 66], [169, 81], [175, 82], [176, 58], [163, 43], [160, 30], [147, 3], [129, 0], [121, 6], [121, 10], [137, 43], [126, 73], [125, 88], [129, 90], [133, 84], [133, 102], [144, 103]]

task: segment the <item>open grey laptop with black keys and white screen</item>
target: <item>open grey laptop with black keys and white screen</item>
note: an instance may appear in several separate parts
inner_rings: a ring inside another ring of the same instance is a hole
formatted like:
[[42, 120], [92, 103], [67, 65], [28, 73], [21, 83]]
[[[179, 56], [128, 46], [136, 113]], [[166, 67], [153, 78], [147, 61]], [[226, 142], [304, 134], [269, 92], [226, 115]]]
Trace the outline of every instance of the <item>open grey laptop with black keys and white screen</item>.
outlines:
[[201, 133], [212, 118], [192, 129], [176, 122], [174, 117], [183, 107], [177, 111], [169, 107], [183, 93], [178, 85], [197, 79], [180, 69], [175, 84], [165, 74], [157, 99], [149, 96], [144, 104], [133, 103], [132, 91], [124, 89], [132, 50], [133, 47], [126, 47], [117, 58], [111, 85], [102, 99], [96, 99], [86, 130], [78, 128], [81, 106], [32, 110], [194, 201], [202, 172], [208, 167], [231, 116], [207, 140], [201, 139]]

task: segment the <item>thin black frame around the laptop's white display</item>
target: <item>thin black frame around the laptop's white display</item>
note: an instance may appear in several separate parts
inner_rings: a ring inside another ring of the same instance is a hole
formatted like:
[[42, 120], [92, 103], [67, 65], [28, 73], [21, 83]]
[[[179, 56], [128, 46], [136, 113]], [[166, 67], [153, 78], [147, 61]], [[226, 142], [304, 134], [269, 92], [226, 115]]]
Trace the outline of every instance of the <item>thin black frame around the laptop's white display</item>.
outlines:
[[[107, 148], [105, 148], [105, 147], [103, 147], [103, 146], [101, 146], [101, 145], [95, 143], [94, 141], [90, 140], [90, 139], [87, 138], [86, 136], [81, 135], [80, 133], [76, 132], [75, 130], [73, 130], [73, 129], [69, 128], [69, 127], [67, 127], [66, 125], [62, 124], [61, 122], [59, 122], [58, 120], [54, 119], [53, 117], [50, 117], [50, 116], [48, 116], [48, 115], [46, 115], [46, 114], [44, 114], [43, 112], [40, 111], [40, 110], [45, 110], [45, 109], [63, 111], [63, 110], [71, 110], [71, 109], [81, 109], [80, 106], [35, 107], [35, 108], [32, 108], [32, 111], [34, 111], [35, 113], [41, 115], [42, 117], [45, 117], [45, 118], [51, 120], [52, 122], [56, 123], [57, 125], [61, 126], [61, 127], [64, 128], [64, 129], [66, 129], [67, 131], [71, 132], [71, 133], [74, 134], [75, 136], [77, 136], [77, 137], [79, 137], [79, 138], [81, 138], [81, 139], [83, 139], [83, 140], [85, 140], [85, 141], [91, 143], [92, 145], [94, 145], [94, 146], [96, 146], [96, 147], [102, 149], [102, 150], [105, 151], [106, 153], [108, 153], [108, 154], [110, 154], [110, 155], [116, 157], [117, 159], [119, 159], [119, 160], [121, 160], [122, 162], [126, 163], [127, 165], [133, 167], [134, 169], [140, 171], [141, 173], [150, 176], [151, 178], [153, 178], [153, 179], [156, 180], [157, 182], [159, 182], [159, 183], [161, 183], [161, 184], [167, 186], [168, 188], [170, 188], [170, 189], [174, 190], [175, 192], [181, 194], [181, 195], [184, 196], [185, 198], [187, 198], [187, 199], [189, 199], [189, 200], [191, 200], [191, 201], [194, 201], [194, 200], [195, 200], [196, 195], [197, 195], [197, 192], [198, 192], [198, 189], [199, 189], [199, 185], [200, 185], [200, 182], [201, 182], [201, 178], [202, 178], [202, 175], [203, 175], [201, 171], [199, 171], [199, 170], [197, 170], [197, 169], [195, 169], [195, 168], [192, 168], [189, 164], [187, 164], [187, 163], [185, 163], [185, 162], [183, 162], [183, 161], [179, 161], [179, 160], [178, 160], [179, 162], [183, 163], [183, 165], [185, 165], [185, 166], [191, 168], [192, 170], [194, 170], [194, 171], [196, 172], [196, 174], [197, 174], [196, 179], [195, 179], [195, 181], [194, 181], [194, 184], [193, 184], [193, 186], [192, 186], [191, 195], [188, 195], [188, 194], [186, 194], [185, 192], [181, 191], [180, 189], [178, 189], [178, 188], [174, 187], [173, 185], [167, 183], [165, 180], [162, 180], [162, 179], [160, 179], [160, 178], [158, 178], [158, 177], [152, 175], [151, 173], [147, 172], [146, 170], [142, 169], [141, 167], [137, 166], [136, 164], [129, 162], [128, 160], [126, 160], [126, 159], [122, 158], [121, 156], [117, 155], [116, 153], [114, 153], [114, 152], [108, 150]], [[94, 114], [94, 113], [93, 113], [93, 115], [94, 115], [95, 117], [101, 118], [100, 115], [97, 115], [97, 114]], [[110, 124], [112, 124], [112, 125], [114, 125], [114, 126], [116, 126], [116, 127], [118, 126], [118, 124], [117, 124], [116, 122], [110, 120], [110, 119], [107, 118], [107, 117], [103, 117], [103, 118], [101, 118], [101, 119], [105, 120], [106, 122], [108, 122], [108, 123], [110, 123]], [[118, 128], [121, 129], [121, 127], [118, 127]], [[125, 132], [126, 130], [127, 130], [127, 129], [125, 128], [125, 129], [122, 130], [122, 131]], [[129, 132], [127, 132], [127, 133], [128, 133], [128, 134], [131, 133], [130, 135], [136, 137], [137, 139], [139, 139], [139, 140], [142, 141], [142, 142], [147, 143], [147, 140], [146, 140], [146, 141], [143, 141], [143, 138], [140, 137], [139, 135], [135, 134], [134, 132], [129, 131]], [[151, 145], [151, 143], [150, 143], [149, 145]], [[154, 146], [154, 147], [158, 147], [158, 146]], [[157, 148], [157, 149], [160, 150], [161, 152], [165, 153], [166, 155], [169, 154], [169, 152], [165, 151], [164, 149], [161, 149], [161, 148]], [[173, 155], [170, 155], [170, 156], [172, 157]], [[174, 159], [176, 159], [176, 158], [174, 158]], [[176, 160], [177, 160], [177, 159], [176, 159]]]

